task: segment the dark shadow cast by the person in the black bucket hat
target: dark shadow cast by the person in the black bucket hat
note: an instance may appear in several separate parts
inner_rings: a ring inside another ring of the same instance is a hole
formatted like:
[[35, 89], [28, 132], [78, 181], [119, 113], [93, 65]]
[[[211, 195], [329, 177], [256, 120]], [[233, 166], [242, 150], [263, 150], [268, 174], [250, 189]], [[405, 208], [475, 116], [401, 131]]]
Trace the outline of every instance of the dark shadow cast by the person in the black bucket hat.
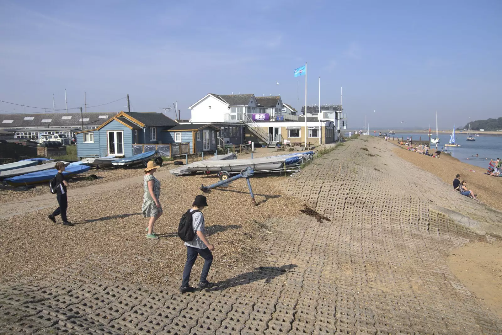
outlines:
[[216, 287], [211, 290], [221, 290], [225, 288], [235, 287], [239, 285], [246, 285], [258, 280], [265, 279], [265, 283], [269, 283], [272, 279], [279, 277], [286, 272], [298, 267], [296, 264], [287, 264], [278, 266], [259, 266], [253, 271], [241, 273], [235, 277], [228, 278], [216, 283]]

